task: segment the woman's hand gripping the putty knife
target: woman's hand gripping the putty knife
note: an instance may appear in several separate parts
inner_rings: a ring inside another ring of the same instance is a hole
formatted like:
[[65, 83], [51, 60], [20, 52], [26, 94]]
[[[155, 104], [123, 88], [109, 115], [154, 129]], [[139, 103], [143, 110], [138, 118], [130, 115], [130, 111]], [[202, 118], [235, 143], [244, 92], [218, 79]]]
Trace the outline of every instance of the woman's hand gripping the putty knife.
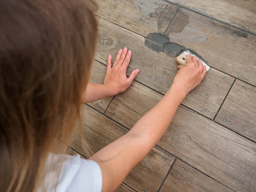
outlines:
[[186, 66], [178, 65], [178, 69], [172, 87], [178, 87], [178, 90], [184, 91], [185, 95], [201, 83], [207, 72], [206, 66], [191, 55], [186, 58]]

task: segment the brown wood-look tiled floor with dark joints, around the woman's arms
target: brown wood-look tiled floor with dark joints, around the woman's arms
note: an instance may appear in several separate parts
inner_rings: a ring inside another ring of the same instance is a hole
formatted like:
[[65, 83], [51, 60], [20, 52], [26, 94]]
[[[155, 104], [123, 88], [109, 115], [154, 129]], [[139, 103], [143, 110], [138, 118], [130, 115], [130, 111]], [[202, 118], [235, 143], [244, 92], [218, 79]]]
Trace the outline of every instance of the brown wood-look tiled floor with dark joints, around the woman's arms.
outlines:
[[[175, 57], [145, 46], [150, 33], [192, 48], [212, 67], [182, 102], [168, 130], [118, 192], [256, 191], [256, 1], [97, 0], [99, 41], [91, 82], [106, 60], [133, 52], [131, 87], [84, 106], [83, 134], [93, 152], [113, 142], [166, 93]], [[76, 131], [69, 154], [88, 158]]]

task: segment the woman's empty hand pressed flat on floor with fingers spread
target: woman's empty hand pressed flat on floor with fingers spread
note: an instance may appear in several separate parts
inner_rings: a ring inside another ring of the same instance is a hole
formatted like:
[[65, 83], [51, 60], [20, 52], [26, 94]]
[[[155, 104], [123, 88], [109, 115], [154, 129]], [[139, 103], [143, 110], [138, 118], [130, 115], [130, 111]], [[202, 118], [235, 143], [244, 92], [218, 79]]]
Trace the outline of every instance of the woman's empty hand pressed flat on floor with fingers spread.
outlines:
[[127, 48], [118, 51], [113, 66], [111, 61], [112, 56], [109, 55], [104, 85], [110, 88], [112, 95], [117, 95], [124, 92], [131, 85], [139, 70], [134, 70], [130, 77], [127, 78], [126, 70], [131, 61], [131, 51], [128, 51]]

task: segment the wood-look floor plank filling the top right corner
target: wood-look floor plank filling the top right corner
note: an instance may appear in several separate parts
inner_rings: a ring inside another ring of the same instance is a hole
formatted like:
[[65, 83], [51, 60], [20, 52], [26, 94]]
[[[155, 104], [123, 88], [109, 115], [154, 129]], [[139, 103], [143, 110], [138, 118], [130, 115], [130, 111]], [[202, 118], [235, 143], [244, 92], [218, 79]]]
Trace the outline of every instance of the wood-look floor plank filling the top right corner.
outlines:
[[256, 33], [255, 0], [169, 0], [230, 25]]

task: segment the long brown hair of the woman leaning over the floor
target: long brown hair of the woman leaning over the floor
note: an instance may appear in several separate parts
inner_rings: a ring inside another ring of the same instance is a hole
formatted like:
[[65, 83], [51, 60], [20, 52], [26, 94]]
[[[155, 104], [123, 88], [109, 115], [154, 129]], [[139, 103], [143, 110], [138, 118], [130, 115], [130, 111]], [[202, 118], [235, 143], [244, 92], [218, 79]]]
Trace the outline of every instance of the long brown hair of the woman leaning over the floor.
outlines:
[[0, 190], [38, 187], [79, 118], [96, 48], [92, 0], [0, 0]]

